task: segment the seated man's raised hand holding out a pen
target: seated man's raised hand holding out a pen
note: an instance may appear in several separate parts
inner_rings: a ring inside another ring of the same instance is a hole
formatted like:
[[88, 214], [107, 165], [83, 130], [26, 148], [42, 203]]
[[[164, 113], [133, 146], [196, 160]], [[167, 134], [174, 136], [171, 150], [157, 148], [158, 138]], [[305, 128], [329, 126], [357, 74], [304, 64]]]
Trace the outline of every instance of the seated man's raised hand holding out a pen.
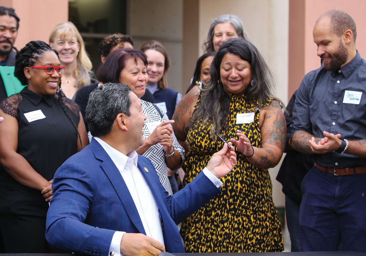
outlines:
[[[229, 142], [231, 146], [232, 143]], [[207, 169], [212, 172], [217, 178], [221, 178], [228, 174], [236, 165], [236, 153], [234, 147], [228, 149], [226, 143], [224, 147], [212, 155], [207, 164]]]

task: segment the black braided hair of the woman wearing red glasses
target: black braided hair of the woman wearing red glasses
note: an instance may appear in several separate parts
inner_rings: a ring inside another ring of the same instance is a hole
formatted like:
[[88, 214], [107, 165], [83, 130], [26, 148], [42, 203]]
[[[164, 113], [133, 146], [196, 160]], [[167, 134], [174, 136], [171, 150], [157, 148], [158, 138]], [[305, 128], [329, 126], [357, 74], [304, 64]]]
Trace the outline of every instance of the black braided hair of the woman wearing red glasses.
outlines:
[[[44, 56], [44, 53], [47, 51], [54, 52], [57, 55], [57, 57], [59, 57], [59, 53], [56, 50], [52, 49], [51, 46], [49, 46], [48, 44], [46, 44], [43, 41], [30, 41], [22, 49], [19, 50], [19, 52], [15, 56], [14, 76], [19, 79], [20, 83], [22, 83], [23, 85], [28, 84], [28, 79], [26, 78], [26, 76], [24, 74], [24, 68], [34, 66], [34, 64], [37, 61], [42, 59], [42, 57]], [[65, 97], [64, 93], [61, 90], [61, 80], [60, 80], [57, 98], [58, 98], [59, 104], [61, 105], [62, 110], [64, 111], [66, 116], [70, 119], [72, 126], [75, 128], [75, 131], [79, 137], [80, 146], [82, 148], [81, 136], [78, 131], [78, 127], [72, 121], [70, 113], [66, 109], [64, 97]]]

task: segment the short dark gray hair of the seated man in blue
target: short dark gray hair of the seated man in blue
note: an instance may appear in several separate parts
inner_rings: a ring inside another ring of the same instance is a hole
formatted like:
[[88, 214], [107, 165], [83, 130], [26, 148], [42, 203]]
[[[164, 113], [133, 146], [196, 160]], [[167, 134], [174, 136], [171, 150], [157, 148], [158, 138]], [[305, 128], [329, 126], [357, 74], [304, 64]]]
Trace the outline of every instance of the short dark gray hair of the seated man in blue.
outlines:
[[117, 114], [131, 115], [131, 91], [127, 84], [105, 83], [90, 93], [85, 116], [91, 135], [111, 132]]

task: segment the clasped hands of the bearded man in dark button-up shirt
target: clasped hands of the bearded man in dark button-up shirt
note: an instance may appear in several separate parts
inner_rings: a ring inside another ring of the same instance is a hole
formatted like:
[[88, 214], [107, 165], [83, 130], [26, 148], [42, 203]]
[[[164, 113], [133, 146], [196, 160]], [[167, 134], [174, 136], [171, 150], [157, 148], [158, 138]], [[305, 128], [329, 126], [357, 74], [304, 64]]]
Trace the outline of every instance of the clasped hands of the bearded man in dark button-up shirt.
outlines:
[[337, 151], [342, 144], [342, 141], [340, 140], [341, 135], [339, 133], [333, 134], [326, 131], [323, 132], [323, 135], [324, 138], [322, 139], [311, 137], [311, 140], [309, 140], [311, 150], [315, 154], [325, 154], [331, 151]]

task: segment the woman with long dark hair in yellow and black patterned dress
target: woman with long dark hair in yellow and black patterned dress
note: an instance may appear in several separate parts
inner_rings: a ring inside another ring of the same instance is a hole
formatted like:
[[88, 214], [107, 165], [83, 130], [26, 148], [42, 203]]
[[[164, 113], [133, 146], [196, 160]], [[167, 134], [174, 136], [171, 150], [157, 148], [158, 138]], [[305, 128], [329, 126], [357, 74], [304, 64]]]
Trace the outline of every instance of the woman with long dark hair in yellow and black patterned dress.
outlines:
[[[222, 193], [183, 222], [186, 252], [278, 252], [283, 239], [268, 168], [283, 154], [286, 124], [274, 80], [261, 54], [242, 38], [229, 39], [211, 65], [189, 124], [184, 185], [222, 143], [236, 147], [238, 163], [223, 178]], [[237, 138], [237, 139], [234, 139]]]

